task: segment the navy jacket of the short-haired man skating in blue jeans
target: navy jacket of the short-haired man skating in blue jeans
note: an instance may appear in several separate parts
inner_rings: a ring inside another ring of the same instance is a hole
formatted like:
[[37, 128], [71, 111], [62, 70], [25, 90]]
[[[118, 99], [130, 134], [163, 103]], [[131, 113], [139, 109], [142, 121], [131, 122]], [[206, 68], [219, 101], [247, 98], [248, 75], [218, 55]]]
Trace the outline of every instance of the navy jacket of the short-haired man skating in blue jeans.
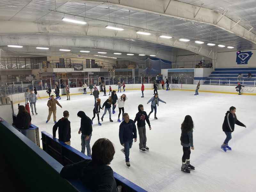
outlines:
[[128, 123], [123, 121], [119, 126], [119, 140], [121, 145], [133, 138], [137, 139], [137, 130], [134, 121], [132, 119]]

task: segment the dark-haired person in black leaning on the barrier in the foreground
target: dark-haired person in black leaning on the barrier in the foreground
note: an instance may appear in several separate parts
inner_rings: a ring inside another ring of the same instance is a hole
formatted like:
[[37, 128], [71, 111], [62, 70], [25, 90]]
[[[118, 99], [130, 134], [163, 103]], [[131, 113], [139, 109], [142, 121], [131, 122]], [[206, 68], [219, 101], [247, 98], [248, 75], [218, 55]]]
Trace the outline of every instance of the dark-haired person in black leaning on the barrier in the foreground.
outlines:
[[117, 192], [113, 170], [109, 166], [115, 155], [112, 142], [106, 138], [98, 139], [92, 146], [92, 160], [86, 159], [66, 165], [60, 177], [79, 179], [86, 188], [98, 192]]

